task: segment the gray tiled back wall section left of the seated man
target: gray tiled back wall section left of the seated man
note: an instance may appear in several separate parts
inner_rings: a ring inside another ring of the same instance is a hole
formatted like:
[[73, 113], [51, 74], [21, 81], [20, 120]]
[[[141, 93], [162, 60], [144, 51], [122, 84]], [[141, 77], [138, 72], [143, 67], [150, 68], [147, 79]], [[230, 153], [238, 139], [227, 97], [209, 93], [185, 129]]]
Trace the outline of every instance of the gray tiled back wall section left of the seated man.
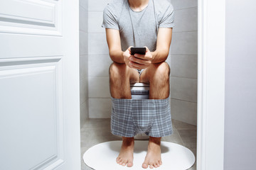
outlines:
[[88, 0], [89, 117], [110, 118], [108, 69], [112, 63], [107, 47], [103, 10], [110, 0]]

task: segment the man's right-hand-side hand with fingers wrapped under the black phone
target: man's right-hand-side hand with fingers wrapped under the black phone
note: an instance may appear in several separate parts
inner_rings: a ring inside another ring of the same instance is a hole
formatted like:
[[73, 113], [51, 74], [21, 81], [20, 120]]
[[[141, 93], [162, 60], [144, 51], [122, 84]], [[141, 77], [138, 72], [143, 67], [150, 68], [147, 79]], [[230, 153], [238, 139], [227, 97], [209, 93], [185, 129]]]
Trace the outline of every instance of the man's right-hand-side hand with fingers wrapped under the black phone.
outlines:
[[145, 55], [139, 55], [139, 54], [130, 55], [129, 57], [130, 66], [129, 65], [128, 66], [134, 69], [146, 69], [147, 67], [149, 67], [152, 60], [153, 60], [153, 56], [151, 55], [149, 48], [146, 47]]

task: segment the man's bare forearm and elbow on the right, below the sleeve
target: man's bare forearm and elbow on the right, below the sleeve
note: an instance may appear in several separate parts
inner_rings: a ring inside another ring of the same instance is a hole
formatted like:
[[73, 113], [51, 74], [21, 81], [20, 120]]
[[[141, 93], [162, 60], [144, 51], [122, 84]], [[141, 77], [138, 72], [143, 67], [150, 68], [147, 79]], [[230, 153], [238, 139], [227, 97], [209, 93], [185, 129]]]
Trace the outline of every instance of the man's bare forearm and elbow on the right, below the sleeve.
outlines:
[[156, 40], [156, 50], [151, 52], [153, 60], [151, 63], [164, 62], [168, 55], [171, 45], [172, 28], [159, 28]]

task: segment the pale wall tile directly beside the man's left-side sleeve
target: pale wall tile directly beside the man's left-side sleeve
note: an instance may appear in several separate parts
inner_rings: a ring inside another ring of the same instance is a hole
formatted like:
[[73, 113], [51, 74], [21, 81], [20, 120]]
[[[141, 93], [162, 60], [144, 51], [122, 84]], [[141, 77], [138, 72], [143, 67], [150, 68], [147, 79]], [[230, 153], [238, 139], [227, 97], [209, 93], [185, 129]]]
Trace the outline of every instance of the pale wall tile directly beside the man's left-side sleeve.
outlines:
[[102, 11], [90, 11], [88, 18], [89, 33], [105, 33], [105, 28], [102, 28], [102, 21]]

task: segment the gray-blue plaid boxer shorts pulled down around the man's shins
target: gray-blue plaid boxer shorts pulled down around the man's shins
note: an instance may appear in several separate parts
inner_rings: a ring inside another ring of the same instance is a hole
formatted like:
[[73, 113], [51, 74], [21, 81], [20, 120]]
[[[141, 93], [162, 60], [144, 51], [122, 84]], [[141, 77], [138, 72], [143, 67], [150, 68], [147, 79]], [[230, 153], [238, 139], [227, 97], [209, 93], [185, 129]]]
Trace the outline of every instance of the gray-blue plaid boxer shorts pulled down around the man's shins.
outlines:
[[112, 98], [111, 130], [112, 134], [122, 137], [134, 137], [139, 133], [151, 137], [171, 135], [170, 98]]

